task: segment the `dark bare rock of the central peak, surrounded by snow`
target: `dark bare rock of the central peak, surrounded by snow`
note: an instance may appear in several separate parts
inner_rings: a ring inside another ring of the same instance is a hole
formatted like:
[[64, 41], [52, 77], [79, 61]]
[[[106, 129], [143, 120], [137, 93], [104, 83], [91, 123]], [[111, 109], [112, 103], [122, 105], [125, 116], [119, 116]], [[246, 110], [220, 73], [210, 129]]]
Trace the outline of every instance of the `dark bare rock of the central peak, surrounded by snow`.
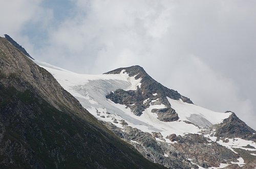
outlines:
[[[153, 102], [157, 101], [158, 104], [163, 104], [166, 108], [154, 109], [152, 112], [155, 112], [158, 115], [159, 120], [172, 122], [178, 120], [179, 116], [171, 107], [166, 97], [175, 100], [181, 99], [184, 102], [193, 104], [189, 98], [180, 95], [177, 91], [162, 86], [159, 82], [149, 76], [140, 66], [119, 68], [104, 74], [119, 74], [123, 69], [130, 77], [135, 76], [135, 79], [141, 78], [140, 88], [137, 87], [136, 91], [124, 91], [119, 89], [106, 95], [106, 98], [115, 103], [124, 104], [127, 107], [130, 107], [135, 115], [140, 116], [145, 108], [149, 107], [151, 104], [156, 104]], [[143, 103], [146, 99], [148, 100]]]

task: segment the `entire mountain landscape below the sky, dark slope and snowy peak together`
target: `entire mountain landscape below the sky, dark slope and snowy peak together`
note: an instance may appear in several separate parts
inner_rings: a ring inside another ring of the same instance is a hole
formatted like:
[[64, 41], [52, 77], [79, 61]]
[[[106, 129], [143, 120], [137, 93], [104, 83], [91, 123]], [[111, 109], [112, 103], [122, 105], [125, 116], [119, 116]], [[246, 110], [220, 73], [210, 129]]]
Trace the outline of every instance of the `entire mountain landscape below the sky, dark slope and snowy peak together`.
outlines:
[[77, 74], [26, 58], [7, 40], [0, 44], [1, 164], [161, 167], [133, 147], [167, 168], [256, 168], [256, 132], [234, 112], [195, 105], [140, 66]]

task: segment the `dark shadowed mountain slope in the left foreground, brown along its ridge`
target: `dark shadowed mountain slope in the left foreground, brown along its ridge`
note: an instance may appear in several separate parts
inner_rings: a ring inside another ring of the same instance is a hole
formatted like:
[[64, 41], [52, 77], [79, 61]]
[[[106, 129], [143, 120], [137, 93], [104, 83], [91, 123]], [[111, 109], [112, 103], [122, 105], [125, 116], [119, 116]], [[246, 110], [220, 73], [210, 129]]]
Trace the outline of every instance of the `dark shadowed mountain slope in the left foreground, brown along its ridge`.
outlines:
[[0, 37], [0, 168], [164, 168], [99, 123], [26, 55]]

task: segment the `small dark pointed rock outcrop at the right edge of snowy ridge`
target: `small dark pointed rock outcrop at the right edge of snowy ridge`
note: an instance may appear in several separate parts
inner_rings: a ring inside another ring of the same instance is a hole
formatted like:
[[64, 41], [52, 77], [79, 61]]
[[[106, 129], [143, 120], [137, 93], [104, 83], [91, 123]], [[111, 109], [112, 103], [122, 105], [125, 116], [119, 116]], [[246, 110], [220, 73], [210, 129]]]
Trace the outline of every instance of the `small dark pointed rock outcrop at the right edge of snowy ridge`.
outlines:
[[242, 138], [256, 142], [256, 131], [247, 126], [233, 112], [231, 116], [223, 120], [223, 123], [216, 125], [217, 137]]

